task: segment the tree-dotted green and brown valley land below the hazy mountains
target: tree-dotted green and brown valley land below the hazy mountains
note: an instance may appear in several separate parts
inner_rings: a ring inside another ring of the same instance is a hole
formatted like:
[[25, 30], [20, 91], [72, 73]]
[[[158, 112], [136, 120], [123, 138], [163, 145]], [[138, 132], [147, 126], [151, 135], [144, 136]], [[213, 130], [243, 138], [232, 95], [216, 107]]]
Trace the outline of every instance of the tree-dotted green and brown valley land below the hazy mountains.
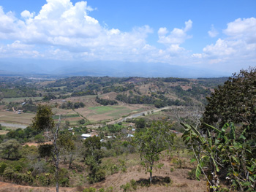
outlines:
[[[0, 126], [6, 131], [0, 135], [0, 180], [57, 186], [57, 191], [59, 186], [79, 191], [255, 191], [255, 74], [250, 68], [229, 80], [212, 79], [216, 82], [69, 77], [42, 84], [4, 79], [1, 112], [34, 116], [28, 116], [32, 123], [27, 128]], [[29, 98], [7, 98], [19, 88], [20, 96]], [[124, 106], [146, 110], [136, 113]], [[98, 110], [99, 116], [126, 113], [90, 121], [93, 112], [85, 110]], [[118, 184], [108, 185], [110, 178], [119, 179]]]

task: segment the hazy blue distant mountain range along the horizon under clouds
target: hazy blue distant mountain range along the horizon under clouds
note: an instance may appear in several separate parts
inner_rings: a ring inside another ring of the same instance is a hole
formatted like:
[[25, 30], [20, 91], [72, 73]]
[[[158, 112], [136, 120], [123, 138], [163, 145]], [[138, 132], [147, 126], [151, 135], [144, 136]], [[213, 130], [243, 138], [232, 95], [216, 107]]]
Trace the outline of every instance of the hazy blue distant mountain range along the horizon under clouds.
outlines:
[[227, 77], [230, 73], [191, 66], [162, 63], [129, 63], [118, 61], [68, 62], [17, 59], [0, 61], [0, 75], [58, 75], [110, 77]]

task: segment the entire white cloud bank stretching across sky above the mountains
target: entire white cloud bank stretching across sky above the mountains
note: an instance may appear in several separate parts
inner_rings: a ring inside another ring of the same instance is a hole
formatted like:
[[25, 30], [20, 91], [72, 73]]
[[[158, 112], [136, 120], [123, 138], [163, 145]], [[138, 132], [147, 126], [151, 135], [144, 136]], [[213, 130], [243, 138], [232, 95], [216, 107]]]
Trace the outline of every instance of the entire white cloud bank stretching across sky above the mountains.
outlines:
[[[0, 58], [255, 65], [256, 18], [227, 23], [222, 38], [206, 45], [201, 53], [192, 53], [182, 47], [192, 38], [192, 20], [184, 21], [183, 28], [139, 26], [120, 31], [101, 25], [89, 16], [92, 11], [86, 1], [47, 0], [39, 13], [24, 10], [18, 17], [0, 6]], [[158, 40], [150, 45], [147, 39], [154, 31]], [[208, 35], [217, 37], [219, 31], [212, 25]]]

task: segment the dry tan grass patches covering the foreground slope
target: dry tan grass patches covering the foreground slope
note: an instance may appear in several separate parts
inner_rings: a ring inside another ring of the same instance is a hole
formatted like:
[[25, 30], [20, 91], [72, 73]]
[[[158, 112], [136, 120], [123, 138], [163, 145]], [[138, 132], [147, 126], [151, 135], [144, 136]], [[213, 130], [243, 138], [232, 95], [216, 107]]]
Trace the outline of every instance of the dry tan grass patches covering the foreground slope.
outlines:
[[[178, 156], [173, 157], [178, 158]], [[206, 181], [196, 181], [196, 180], [189, 180], [188, 172], [192, 169], [192, 164], [186, 163], [186, 168], [174, 168], [174, 164], [171, 163], [172, 159], [170, 156], [165, 155], [159, 163], [163, 164], [162, 169], [153, 169], [153, 184], [142, 186], [140, 182], [148, 183], [149, 174], [146, 172], [146, 169], [143, 166], [140, 166], [140, 157], [138, 154], [129, 154], [129, 155], [121, 155], [118, 157], [112, 158], [105, 158], [103, 159], [102, 164], [120, 164], [119, 160], [125, 161], [125, 166], [127, 167], [126, 172], [122, 172], [121, 170], [115, 174], [108, 175], [106, 179], [99, 183], [94, 183], [93, 185], [89, 185], [88, 183], [84, 183], [85, 176], [83, 173], [80, 174], [82, 176], [75, 177], [74, 174], [70, 174], [70, 180], [76, 179], [80, 180], [81, 185], [79, 187], [74, 188], [61, 188], [60, 191], [67, 191], [67, 192], [75, 192], [75, 191], [83, 191], [83, 188], [113, 188], [113, 191], [123, 191], [121, 189], [121, 185], [125, 185], [129, 183], [130, 180], [135, 180], [138, 183], [138, 188], [136, 191], [140, 192], [164, 192], [164, 191], [184, 191], [184, 192], [203, 192], [206, 191]], [[186, 159], [186, 158], [182, 158]], [[189, 162], [189, 159], [186, 159]], [[61, 166], [62, 167], [62, 166]], [[173, 168], [173, 171], [170, 169]], [[165, 183], [162, 180], [165, 177], [170, 177], [171, 183]], [[26, 192], [26, 191], [33, 191], [33, 192], [51, 192], [55, 191], [55, 188], [43, 188], [43, 187], [29, 187], [29, 186], [21, 186], [21, 185], [14, 185], [10, 183], [1, 183], [0, 182], [0, 192]]]

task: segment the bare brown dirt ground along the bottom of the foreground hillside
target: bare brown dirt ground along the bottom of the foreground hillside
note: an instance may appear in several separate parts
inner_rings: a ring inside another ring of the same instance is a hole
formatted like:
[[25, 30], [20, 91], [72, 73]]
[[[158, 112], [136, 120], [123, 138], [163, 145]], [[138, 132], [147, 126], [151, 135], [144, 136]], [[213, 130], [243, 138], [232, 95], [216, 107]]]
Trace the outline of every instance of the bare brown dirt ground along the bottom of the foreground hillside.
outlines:
[[[154, 169], [154, 177], [170, 177], [172, 181], [170, 184], [157, 183], [149, 187], [138, 186], [137, 191], [140, 192], [164, 192], [164, 191], [184, 191], [184, 192], [204, 192], [206, 191], [206, 181], [196, 181], [188, 179], [188, 172], [190, 171], [187, 168], [187, 164], [184, 164], [183, 169], [174, 168], [173, 172], [170, 172], [170, 167], [174, 167], [173, 164], [170, 164], [170, 161], [167, 159], [161, 161], [164, 166], [162, 169]], [[147, 180], [149, 174], [145, 172], [145, 169], [139, 165], [130, 166], [127, 168], [127, 172], [118, 172], [106, 177], [106, 180], [95, 183], [93, 185], [85, 184], [81, 187], [76, 188], [60, 188], [59, 191], [63, 192], [78, 192], [83, 191], [84, 188], [110, 188], [113, 187], [113, 191], [123, 191], [120, 187], [126, 183], [129, 183], [130, 180], [134, 179], [135, 181]], [[15, 185], [12, 183], [0, 182], [0, 192], [52, 192], [55, 191], [54, 187], [31, 187], [23, 185]]]

